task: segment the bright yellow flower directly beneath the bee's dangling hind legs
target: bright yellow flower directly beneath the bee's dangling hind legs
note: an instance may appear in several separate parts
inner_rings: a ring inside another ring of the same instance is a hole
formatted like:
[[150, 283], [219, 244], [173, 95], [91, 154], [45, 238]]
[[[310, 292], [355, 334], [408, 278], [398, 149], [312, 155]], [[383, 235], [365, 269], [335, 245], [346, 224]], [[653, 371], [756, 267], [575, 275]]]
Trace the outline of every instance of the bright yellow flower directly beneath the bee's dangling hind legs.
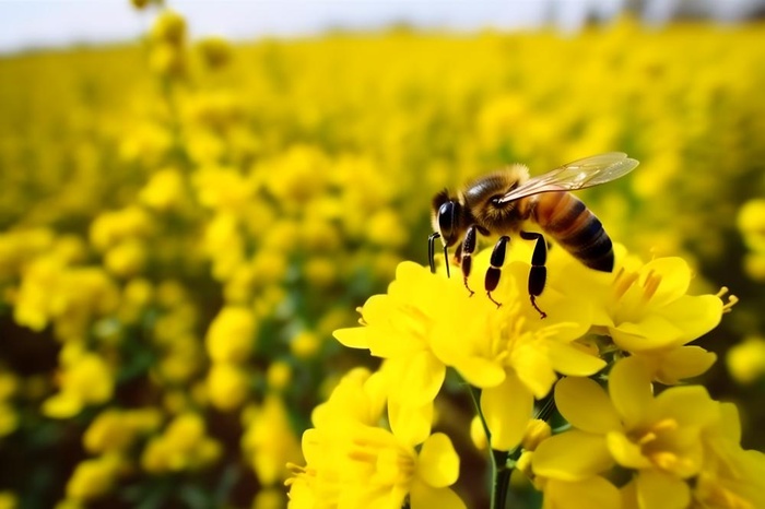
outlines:
[[[475, 257], [476, 275], [469, 281], [474, 288], [482, 284], [489, 254], [484, 250]], [[482, 389], [481, 411], [492, 448], [497, 450], [520, 442], [534, 398], [550, 392], [556, 374], [588, 376], [605, 366], [597, 352], [576, 343], [590, 327], [587, 301], [565, 298], [551, 285], [540, 300], [548, 312], [541, 320], [529, 305], [528, 271], [528, 261], [505, 263], [494, 292], [503, 303], [498, 309], [483, 295], [470, 297], [461, 284], [456, 285], [457, 294], [438, 304], [440, 315], [433, 331], [438, 358]]]

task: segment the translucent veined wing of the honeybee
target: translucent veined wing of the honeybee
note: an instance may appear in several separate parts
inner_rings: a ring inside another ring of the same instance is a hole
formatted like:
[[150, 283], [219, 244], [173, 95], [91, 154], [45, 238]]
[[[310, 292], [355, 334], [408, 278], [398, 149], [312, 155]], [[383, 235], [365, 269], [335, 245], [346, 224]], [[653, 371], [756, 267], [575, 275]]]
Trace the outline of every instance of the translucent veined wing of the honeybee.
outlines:
[[499, 203], [551, 191], [576, 191], [610, 182], [628, 174], [639, 163], [623, 152], [609, 152], [574, 161], [527, 180], [499, 199]]

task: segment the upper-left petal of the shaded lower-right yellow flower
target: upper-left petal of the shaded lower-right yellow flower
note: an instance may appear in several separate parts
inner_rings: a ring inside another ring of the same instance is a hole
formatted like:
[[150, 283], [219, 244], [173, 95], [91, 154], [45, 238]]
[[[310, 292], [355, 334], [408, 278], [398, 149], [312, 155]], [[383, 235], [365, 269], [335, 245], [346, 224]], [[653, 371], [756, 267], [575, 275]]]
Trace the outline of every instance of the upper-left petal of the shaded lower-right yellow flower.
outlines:
[[587, 433], [622, 429], [609, 395], [589, 378], [568, 377], [555, 386], [555, 404], [572, 426]]

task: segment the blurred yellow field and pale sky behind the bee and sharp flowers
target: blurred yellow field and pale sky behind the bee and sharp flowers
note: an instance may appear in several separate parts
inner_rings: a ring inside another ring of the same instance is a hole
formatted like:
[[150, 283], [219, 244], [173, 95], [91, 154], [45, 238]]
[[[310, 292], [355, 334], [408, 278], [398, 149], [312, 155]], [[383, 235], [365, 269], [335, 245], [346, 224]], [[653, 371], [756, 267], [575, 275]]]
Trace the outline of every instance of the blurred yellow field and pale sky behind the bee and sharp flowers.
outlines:
[[763, 2], [132, 3], [0, 4], [0, 508], [284, 507], [431, 197], [609, 151], [612, 238], [740, 298], [702, 382], [765, 448]]

